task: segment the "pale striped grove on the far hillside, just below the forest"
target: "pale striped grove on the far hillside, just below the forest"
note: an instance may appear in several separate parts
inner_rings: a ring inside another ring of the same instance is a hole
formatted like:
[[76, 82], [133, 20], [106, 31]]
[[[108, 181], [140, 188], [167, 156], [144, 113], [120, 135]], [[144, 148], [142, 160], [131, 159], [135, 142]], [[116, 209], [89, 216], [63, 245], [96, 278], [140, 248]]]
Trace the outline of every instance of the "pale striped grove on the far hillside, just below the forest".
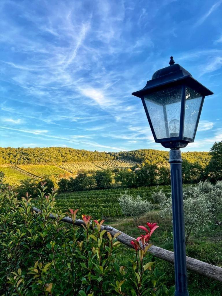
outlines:
[[106, 170], [106, 169], [110, 169], [112, 171], [118, 172], [120, 170], [126, 170], [127, 168], [132, 168], [137, 164], [138, 162], [133, 160], [113, 159], [113, 160], [105, 160], [105, 161], [63, 163], [60, 167], [72, 173], [76, 173], [80, 170], [85, 170], [92, 173], [97, 170]]

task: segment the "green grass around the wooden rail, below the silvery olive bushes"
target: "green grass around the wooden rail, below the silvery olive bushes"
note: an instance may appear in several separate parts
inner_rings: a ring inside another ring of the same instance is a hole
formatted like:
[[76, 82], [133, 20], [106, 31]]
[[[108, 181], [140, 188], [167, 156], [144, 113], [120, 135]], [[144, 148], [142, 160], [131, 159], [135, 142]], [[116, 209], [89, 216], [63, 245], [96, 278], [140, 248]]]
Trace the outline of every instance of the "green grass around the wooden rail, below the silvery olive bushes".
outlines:
[[[126, 234], [137, 237], [143, 231], [137, 228], [139, 225], [146, 226], [146, 222], [157, 222], [160, 226], [152, 235], [151, 243], [167, 250], [173, 251], [173, 227], [170, 219], [162, 219], [158, 211], [153, 211], [140, 218], [136, 224], [131, 218], [107, 219], [105, 223]], [[189, 257], [196, 258], [207, 263], [222, 267], [222, 226], [209, 225], [198, 236], [191, 237], [186, 245], [186, 252]], [[124, 247], [120, 260], [126, 263], [132, 249]], [[159, 258], [153, 258], [158, 263], [158, 268], [166, 272], [168, 284], [174, 284], [174, 266]], [[222, 283], [188, 271], [188, 288], [190, 296], [221, 296]]]

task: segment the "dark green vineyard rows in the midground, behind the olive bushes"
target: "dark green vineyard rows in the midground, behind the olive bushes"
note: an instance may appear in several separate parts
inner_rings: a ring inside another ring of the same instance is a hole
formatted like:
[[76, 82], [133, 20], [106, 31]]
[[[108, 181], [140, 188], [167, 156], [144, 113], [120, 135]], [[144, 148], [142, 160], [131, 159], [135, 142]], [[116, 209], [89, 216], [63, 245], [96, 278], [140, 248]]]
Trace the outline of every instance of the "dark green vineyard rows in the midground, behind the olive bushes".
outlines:
[[[132, 196], [140, 195], [152, 202], [152, 194], [163, 189], [163, 192], [170, 193], [170, 186], [152, 186], [127, 189]], [[62, 212], [69, 209], [79, 209], [79, 214], [91, 215], [93, 218], [98, 217], [121, 217], [118, 198], [120, 193], [126, 189], [106, 189], [91, 190], [81, 192], [61, 193], [56, 197], [56, 207]]]

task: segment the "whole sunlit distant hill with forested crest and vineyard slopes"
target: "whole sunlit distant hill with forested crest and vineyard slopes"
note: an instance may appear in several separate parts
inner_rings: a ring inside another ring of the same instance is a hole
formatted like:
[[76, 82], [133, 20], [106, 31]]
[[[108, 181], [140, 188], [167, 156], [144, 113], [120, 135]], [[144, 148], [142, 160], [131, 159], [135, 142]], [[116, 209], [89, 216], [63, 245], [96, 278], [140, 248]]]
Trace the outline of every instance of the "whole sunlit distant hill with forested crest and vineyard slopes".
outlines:
[[[50, 176], [70, 177], [78, 171], [110, 169], [120, 171], [148, 164], [169, 165], [168, 151], [139, 149], [127, 152], [98, 152], [63, 147], [0, 148], [0, 171], [9, 184], [19, 184], [26, 178]], [[182, 158], [199, 163], [203, 168], [210, 161], [209, 152], [182, 152]]]

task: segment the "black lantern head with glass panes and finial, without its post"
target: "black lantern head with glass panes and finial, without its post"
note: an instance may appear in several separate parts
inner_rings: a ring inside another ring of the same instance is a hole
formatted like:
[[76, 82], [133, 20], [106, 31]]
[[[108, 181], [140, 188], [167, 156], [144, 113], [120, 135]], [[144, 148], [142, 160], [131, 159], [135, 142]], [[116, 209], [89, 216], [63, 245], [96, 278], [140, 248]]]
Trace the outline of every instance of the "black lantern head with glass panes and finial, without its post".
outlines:
[[156, 143], [182, 148], [194, 141], [205, 96], [213, 94], [170, 57], [170, 66], [156, 71], [140, 91]]

